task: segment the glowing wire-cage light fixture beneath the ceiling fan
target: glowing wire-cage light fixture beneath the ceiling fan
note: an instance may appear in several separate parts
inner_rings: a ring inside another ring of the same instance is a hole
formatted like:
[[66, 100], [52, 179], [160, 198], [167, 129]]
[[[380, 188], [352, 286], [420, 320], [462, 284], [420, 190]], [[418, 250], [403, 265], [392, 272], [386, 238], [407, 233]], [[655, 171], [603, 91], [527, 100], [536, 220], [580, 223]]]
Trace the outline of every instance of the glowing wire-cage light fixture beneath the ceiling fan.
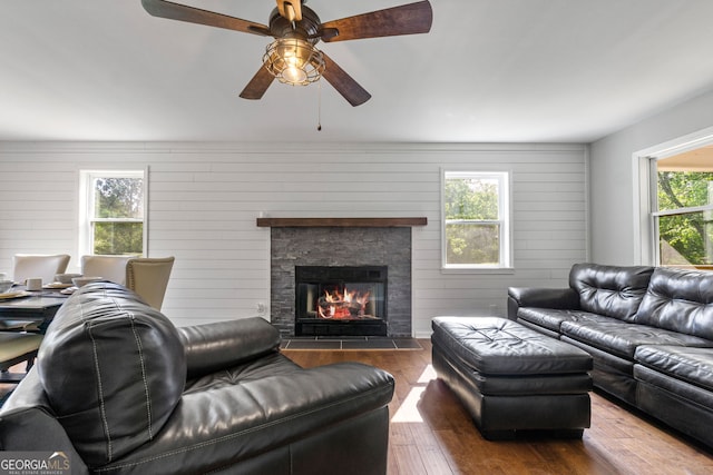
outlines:
[[319, 81], [324, 72], [324, 58], [320, 50], [301, 38], [280, 38], [270, 43], [263, 63], [280, 82], [292, 86]]

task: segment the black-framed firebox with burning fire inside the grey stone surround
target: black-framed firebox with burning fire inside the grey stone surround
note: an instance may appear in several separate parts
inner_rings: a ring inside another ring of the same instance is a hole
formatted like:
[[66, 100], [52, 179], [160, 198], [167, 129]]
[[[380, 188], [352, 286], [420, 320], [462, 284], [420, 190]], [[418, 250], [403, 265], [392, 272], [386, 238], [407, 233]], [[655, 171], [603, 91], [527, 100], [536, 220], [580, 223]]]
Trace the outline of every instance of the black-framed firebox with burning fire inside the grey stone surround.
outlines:
[[295, 336], [387, 336], [387, 266], [295, 266]]

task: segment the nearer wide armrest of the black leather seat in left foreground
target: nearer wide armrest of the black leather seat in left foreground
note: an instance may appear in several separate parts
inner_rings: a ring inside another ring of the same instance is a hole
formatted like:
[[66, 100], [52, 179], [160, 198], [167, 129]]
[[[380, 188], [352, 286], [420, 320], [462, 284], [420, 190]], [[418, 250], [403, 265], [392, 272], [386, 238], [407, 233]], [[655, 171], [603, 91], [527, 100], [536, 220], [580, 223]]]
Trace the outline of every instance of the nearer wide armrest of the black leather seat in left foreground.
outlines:
[[[270, 363], [264, 370], [268, 368]], [[312, 463], [333, 459], [323, 455], [326, 451], [341, 453], [349, 463], [353, 461], [350, 451], [360, 453], [360, 448], [350, 444], [372, 447], [367, 453], [374, 457], [371, 463], [374, 466], [381, 465], [378, 461], [383, 451], [385, 465], [388, 404], [394, 389], [391, 375], [360, 363], [275, 369], [273, 375], [211, 385], [184, 395], [152, 442], [102, 468], [114, 473], [110, 468], [130, 467], [131, 473], [143, 474], [207, 473], [216, 467], [225, 473], [304, 474], [314, 469], [290, 469], [293, 462], [314, 452], [318, 455], [311, 456]], [[365, 426], [358, 439], [350, 443], [353, 437], [343, 427], [355, 420], [365, 422]], [[315, 445], [318, 441], [320, 444]], [[274, 461], [271, 469], [241, 469], [241, 463], [261, 458]], [[339, 469], [319, 467], [316, 472]], [[341, 467], [341, 472], [374, 473], [352, 465]]]

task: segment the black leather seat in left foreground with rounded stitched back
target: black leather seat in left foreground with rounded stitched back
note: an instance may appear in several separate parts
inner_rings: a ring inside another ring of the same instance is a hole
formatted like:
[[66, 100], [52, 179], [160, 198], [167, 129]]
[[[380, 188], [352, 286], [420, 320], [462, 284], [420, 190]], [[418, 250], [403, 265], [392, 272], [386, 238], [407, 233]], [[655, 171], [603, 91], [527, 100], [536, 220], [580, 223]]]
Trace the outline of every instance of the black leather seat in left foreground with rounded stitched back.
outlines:
[[279, 348], [261, 318], [176, 328], [90, 284], [0, 409], [0, 451], [61, 453], [72, 474], [384, 474], [391, 375]]

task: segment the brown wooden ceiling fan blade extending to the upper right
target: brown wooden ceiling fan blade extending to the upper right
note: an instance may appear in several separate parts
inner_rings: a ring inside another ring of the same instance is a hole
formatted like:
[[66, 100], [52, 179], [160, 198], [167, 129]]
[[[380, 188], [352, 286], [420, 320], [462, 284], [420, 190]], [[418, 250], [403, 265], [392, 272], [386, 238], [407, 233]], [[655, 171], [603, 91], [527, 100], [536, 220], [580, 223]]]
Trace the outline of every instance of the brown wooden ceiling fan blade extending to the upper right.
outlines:
[[370, 13], [356, 14], [322, 23], [321, 29], [335, 28], [339, 34], [323, 38], [325, 42], [356, 40], [362, 38], [393, 37], [398, 34], [426, 33], [431, 29], [433, 10], [428, 0]]

